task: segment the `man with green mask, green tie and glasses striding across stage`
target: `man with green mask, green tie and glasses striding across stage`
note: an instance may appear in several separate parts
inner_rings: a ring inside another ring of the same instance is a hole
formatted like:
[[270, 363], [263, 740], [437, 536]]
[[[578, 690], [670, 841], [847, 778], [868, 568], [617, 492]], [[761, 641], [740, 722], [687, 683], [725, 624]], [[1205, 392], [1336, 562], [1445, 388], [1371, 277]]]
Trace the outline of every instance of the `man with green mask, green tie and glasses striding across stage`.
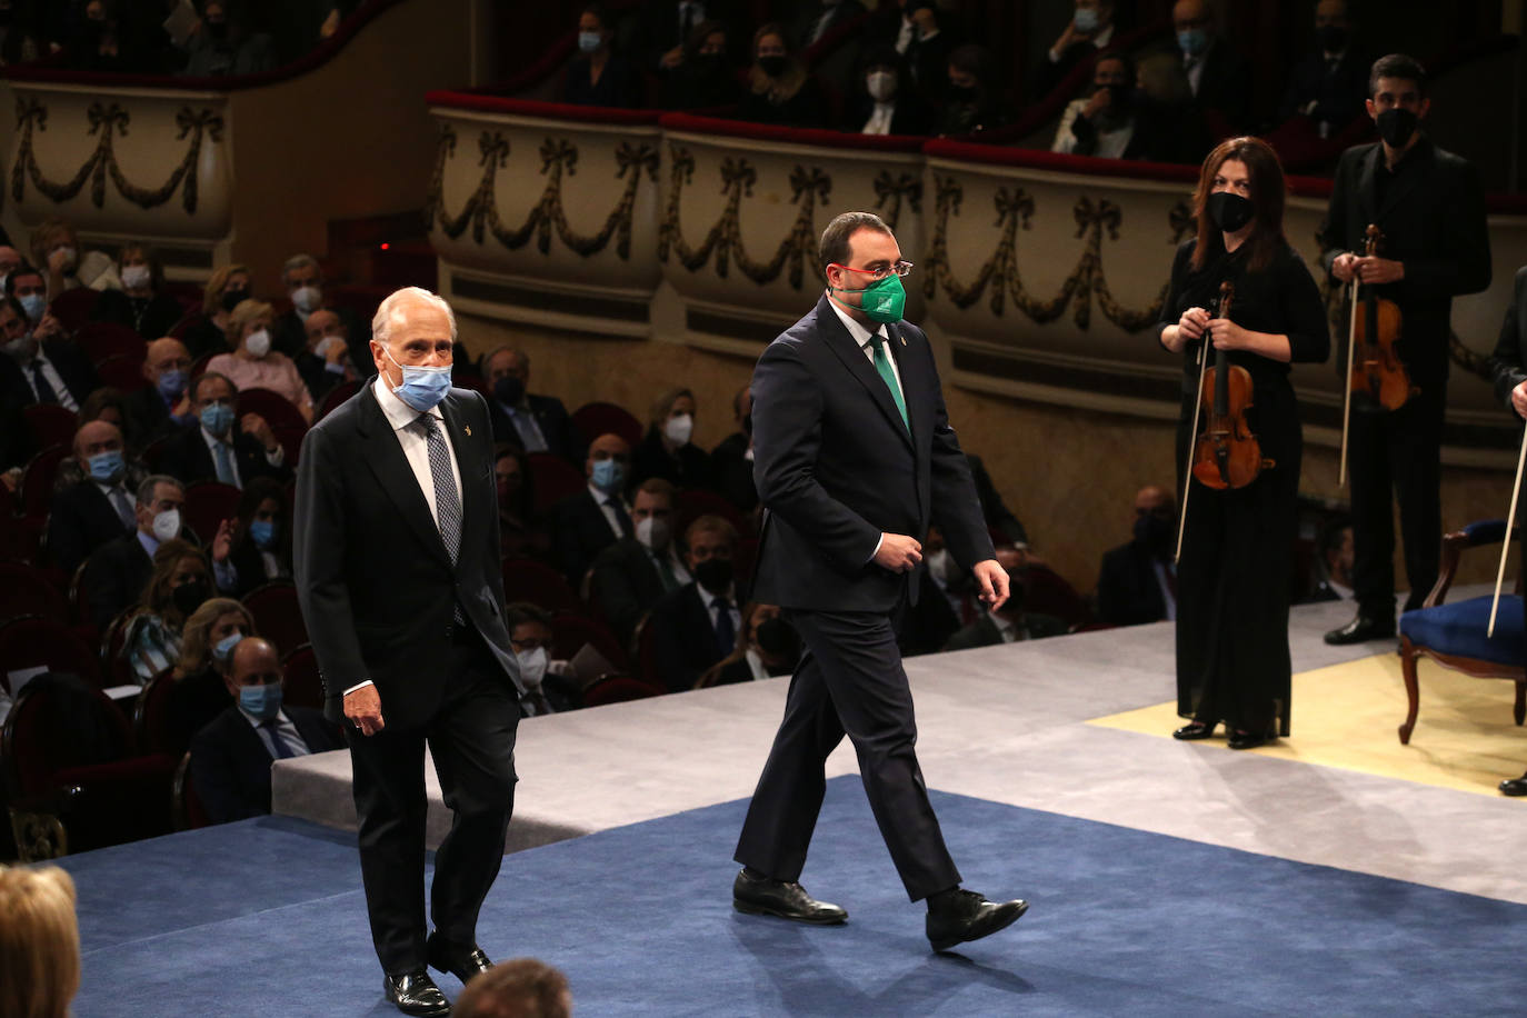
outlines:
[[733, 904], [808, 923], [843, 922], [800, 887], [826, 788], [854, 742], [870, 809], [935, 951], [1012, 923], [1028, 904], [960, 888], [918, 757], [896, 624], [918, 597], [921, 537], [938, 517], [982, 600], [1000, 606], [980, 504], [944, 409], [933, 351], [901, 321], [912, 266], [880, 217], [844, 212], [822, 234], [826, 293], [753, 372], [753, 446], [765, 507], [753, 600], [779, 604], [806, 646], [738, 841]]

